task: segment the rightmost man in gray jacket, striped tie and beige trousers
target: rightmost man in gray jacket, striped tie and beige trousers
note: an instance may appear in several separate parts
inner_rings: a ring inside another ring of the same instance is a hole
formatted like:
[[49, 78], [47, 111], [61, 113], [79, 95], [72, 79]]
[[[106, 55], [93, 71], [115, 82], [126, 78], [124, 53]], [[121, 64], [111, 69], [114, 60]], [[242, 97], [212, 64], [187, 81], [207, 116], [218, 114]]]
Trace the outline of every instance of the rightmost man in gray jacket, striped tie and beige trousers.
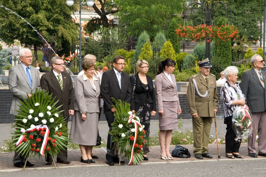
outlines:
[[[248, 153], [250, 157], [264, 156], [266, 157], [266, 72], [262, 70], [264, 61], [260, 55], [251, 57], [253, 68], [244, 72], [240, 83], [242, 93], [247, 98], [247, 105], [251, 111], [253, 121], [252, 136], [248, 140]], [[256, 154], [256, 133], [258, 130], [258, 155]]]

